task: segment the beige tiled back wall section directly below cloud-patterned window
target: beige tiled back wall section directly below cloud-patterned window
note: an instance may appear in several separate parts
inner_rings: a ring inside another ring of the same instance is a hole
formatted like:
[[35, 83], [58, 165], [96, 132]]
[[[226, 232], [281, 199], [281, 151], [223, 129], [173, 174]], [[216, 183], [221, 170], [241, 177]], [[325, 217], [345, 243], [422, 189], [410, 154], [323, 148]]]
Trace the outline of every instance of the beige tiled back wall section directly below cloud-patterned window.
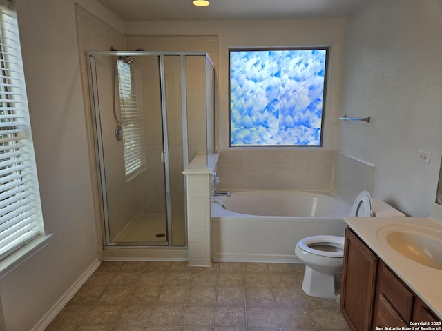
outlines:
[[334, 150], [221, 150], [222, 189], [332, 190]]

